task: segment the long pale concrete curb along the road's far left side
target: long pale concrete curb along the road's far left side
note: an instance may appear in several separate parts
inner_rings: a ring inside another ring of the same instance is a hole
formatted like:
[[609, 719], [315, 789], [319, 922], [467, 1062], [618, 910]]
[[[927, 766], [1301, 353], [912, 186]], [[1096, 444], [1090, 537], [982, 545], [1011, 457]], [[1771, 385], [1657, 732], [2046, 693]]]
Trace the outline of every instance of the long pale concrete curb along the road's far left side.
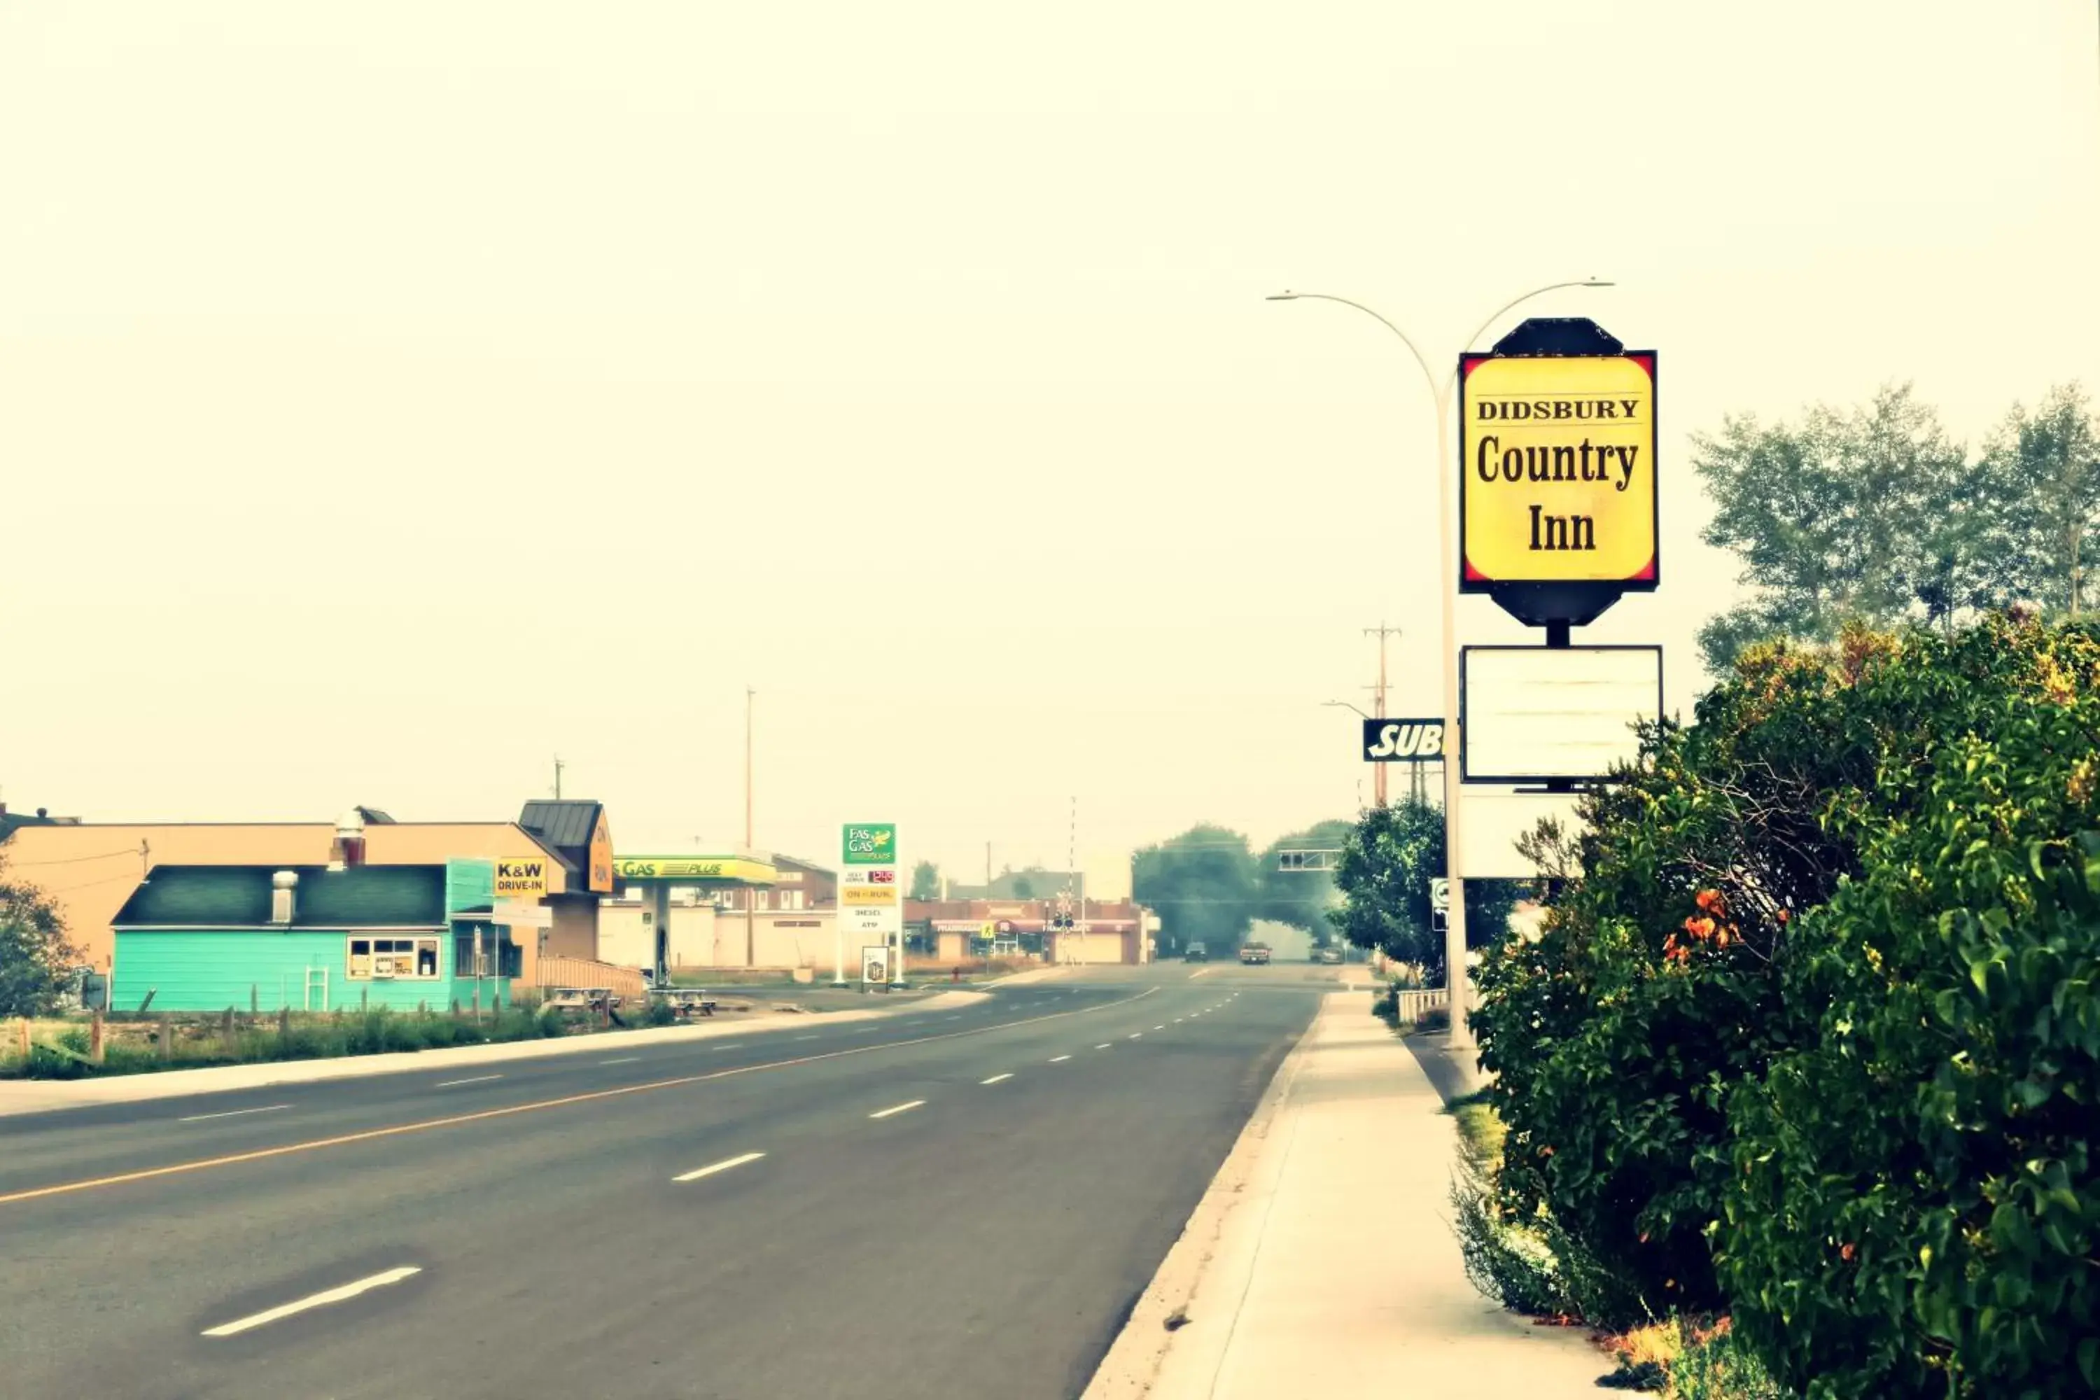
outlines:
[[682, 1045], [729, 1035], [771, 1035], [775, 1031], [806, 1031], [813, 1020], [838, 1024], [848, 1020], [880, 1020], [916, 1012], [976, 1005], [983, 993], [949, 991], [899, 1007], [865, 1012], [823, 1012], [817, 1016], [775, 1014], [741, 1024], [701, 1022], [691, 1026], [640, 1026], [634, 1031], [601, 1031], [567, 1035], [559, 1041], [508, 1041], [502, 1045], [452, 1045], [445, 1049], [407, 1049], [384, 1056], [340, 1056], [334, 1060], [273, 1060], [269, 1064], [210, 1064], [191, 1070], [116, 1075], [111, 1079], [10, 1079], [0, 1081], [0, 1117], [50, 1112], [57, 1108], [88, 1108], [94, 1104], [136, 1104], [155, 1098], [189, 1094], [225, 1094], [231, 1089], [262, 1089], [286, 1083], [319, 1083], [328, 1079], [363, 1079], [368, 1075], [407, 1075], [445, 1070], [470, 1064], [506, 1064], [512, 1060], [546, 1060], [552, 1056], [620, 1054], [638, 1045]]

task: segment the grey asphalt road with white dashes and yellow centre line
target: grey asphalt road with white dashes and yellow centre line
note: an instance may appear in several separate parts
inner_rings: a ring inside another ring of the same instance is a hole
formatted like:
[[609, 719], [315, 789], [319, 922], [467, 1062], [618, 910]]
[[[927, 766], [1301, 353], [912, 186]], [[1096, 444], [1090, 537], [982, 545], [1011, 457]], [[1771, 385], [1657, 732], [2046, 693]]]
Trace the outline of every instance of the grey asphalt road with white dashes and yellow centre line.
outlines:
[[0, 1119], [0, 1390], [1075, 1396], [1336, 972]]

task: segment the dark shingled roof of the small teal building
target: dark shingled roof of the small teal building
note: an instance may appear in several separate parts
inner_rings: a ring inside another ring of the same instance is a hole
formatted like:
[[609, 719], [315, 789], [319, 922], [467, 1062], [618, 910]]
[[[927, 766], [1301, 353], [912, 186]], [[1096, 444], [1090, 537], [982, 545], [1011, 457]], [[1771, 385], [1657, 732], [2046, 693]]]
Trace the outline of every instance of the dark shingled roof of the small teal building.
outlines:
[[441, 928], [443, 865], [158, 865], [116, 928], [267, 928], [271, 875], [292, 869], [292, 928]]

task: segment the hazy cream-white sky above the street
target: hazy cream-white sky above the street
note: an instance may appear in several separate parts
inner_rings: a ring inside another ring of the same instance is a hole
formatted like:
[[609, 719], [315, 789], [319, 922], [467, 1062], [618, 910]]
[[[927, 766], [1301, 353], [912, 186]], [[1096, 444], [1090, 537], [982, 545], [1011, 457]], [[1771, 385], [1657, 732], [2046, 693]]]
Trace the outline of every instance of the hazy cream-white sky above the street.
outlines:
[[[1438, 707], [1438, 363], [1661, 353], [1684, 439], [2100, 384], [2092, 0], [10, 0], [0, 793], [510, 814], [956, 873], [1357, 806]], [[1493, 334], [1508, 327], [1499, 323]], [[1485, 344], [1485, 342], [1483, 342]], [[1466, 600], [1462, 640], [1525, 640]]]

